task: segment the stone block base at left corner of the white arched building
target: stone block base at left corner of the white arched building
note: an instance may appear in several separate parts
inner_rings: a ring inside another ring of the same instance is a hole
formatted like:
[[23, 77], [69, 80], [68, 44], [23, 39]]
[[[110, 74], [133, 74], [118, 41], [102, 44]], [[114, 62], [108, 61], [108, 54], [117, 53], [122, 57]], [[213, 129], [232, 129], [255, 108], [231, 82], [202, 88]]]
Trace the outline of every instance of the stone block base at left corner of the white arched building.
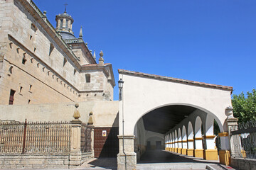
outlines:
[[[118, 170], [133, 170], [136, 169], [137, 154], [134, 152], [135, 136], [122, 136], [119, 138], [119, 153], [117, 154], [117, 169]], [[123, 150], [124, 141], [124, 150]]]

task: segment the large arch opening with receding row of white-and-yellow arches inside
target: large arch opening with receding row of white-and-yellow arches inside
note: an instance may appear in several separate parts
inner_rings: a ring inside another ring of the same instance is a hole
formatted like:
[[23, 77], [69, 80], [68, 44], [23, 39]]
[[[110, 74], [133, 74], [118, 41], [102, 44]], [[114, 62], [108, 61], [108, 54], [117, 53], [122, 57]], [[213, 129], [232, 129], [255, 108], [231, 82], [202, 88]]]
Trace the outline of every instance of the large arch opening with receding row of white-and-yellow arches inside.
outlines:
[[[218, 118], [215, 119], [216, 122], [220, 121]], [[209, 113], [183, 105], [164, 106], [146, 113], [134, 127], [134, 152], [137, 153], [137, 161], [142, 158], [144, 162], [154, 162], [152, 160], [154, 157], [147, 155], [152, 153], [148, 152], [152, 149], [165, 149], [203, 158], [203, 149], [216, 149], [213, 120]], [[208, 138], [204, 139], [204, 136]], [[151, 140], [148, 140], [149, 138]], [[218, 157], [217, 150], [215, 150], [215, 157]], [[162, 160], [158, 159], [158, 161], [166, 162], [167, 159], [162, 157]]]

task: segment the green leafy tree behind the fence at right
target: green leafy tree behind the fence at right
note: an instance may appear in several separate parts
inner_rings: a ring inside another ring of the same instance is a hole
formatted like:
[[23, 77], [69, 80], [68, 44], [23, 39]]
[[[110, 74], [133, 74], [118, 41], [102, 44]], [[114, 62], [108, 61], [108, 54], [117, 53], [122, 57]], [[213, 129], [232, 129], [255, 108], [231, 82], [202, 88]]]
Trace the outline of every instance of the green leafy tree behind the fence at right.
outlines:
[[233, 114], [239, 122], [256, 120], [256, 90], [248, 91], [247, 96], [242, 92], [233, 95], [232, 98]]

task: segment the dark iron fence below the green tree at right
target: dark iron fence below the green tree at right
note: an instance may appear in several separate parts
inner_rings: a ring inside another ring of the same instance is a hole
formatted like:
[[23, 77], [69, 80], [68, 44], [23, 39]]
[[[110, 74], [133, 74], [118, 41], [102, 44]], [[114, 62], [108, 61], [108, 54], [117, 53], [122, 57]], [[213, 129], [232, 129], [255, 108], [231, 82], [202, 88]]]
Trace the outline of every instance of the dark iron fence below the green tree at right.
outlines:
[[256, 122], [239, 123], [230, 130], [231, 156], [256, 159]]

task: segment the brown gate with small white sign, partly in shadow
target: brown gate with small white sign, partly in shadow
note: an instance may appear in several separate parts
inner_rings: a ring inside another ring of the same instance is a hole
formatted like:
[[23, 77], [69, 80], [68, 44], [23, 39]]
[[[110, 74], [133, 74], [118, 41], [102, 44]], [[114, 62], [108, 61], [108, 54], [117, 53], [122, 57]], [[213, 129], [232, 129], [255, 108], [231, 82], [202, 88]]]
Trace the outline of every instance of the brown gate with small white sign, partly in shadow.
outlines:
[[95, 157], [117, 157], [118, 128], [95, 128], [94, 134]]

